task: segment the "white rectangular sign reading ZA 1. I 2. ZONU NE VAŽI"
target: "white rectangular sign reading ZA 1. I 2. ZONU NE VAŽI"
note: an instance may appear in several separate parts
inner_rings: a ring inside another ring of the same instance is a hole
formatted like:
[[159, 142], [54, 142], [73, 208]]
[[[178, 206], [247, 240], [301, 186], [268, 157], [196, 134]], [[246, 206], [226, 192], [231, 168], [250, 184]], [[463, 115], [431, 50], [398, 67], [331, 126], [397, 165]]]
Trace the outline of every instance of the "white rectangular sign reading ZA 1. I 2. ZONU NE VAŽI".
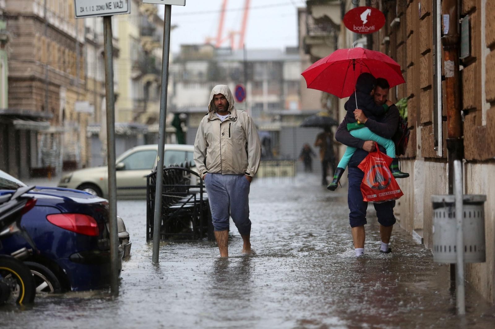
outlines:
[[74, 0], [76, 18], [131, 13], [131, 0]]

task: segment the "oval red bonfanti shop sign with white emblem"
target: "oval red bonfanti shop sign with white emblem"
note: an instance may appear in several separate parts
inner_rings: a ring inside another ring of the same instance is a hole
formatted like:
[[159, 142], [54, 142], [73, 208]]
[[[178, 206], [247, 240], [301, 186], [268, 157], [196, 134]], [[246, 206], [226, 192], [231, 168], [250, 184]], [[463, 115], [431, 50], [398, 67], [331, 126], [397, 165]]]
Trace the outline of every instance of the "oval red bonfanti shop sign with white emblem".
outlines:
[[385, 25], [385, 15], [373, 7], [357, 7], [344, 15], [344, 25], [352, 32], [369, 34]]

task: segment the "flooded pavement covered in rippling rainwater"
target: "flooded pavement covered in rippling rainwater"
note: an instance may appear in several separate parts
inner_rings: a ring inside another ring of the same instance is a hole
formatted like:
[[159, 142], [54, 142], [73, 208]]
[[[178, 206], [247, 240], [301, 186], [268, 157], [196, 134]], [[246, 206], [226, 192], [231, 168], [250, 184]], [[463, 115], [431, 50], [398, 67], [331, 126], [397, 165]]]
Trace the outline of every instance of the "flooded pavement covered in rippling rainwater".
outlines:
[[257, 180], [249, 201], [257, 255], [241, 256], [231, 223], [229, 258], [213, 242], [169, 242], [159, 265], [145, 239], [145, 201], [119, 201], [133, 243], [119, 297], [41, 295], [32, 307], [0, 309], [0, 327], [494, 328], [495, 307], [469, 285], [467, 315], [455, 315], [448, 267], [398, 225], [394, 252], [378, 253], [372, 206], [366, 255], [356, 259], [345, 189], [328, 192], [310, 175]]

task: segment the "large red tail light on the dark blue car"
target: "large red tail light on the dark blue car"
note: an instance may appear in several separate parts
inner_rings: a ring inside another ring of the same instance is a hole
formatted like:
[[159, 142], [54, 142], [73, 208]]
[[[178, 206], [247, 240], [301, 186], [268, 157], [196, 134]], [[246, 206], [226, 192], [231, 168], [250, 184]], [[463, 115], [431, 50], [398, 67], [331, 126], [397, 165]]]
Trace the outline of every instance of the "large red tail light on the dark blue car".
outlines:
[[47, 219], [53, 225], [65, 230], [92, 237], [99, 236], [98, 223], [95, 218], [89, 215], [82, 213], [56, 213], [47, 215]]

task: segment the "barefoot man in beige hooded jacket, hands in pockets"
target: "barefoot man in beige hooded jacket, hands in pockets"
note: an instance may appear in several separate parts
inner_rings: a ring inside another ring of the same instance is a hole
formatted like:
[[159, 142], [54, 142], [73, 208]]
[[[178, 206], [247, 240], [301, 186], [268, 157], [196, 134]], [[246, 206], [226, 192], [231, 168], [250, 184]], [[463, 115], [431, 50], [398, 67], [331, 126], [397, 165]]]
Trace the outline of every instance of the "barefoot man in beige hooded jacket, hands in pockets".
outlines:
[[243, 254], [253, 254], [249, 236], [249, 185], [261, 157], [261, 143], [252, 119], [237, 111], [229, 87], [211, 90], [208, 113], [194, 143], [194, 162], [204, 180], [215, 238], [221, 257], [228, 257], [229, 217], [243, 238]]

